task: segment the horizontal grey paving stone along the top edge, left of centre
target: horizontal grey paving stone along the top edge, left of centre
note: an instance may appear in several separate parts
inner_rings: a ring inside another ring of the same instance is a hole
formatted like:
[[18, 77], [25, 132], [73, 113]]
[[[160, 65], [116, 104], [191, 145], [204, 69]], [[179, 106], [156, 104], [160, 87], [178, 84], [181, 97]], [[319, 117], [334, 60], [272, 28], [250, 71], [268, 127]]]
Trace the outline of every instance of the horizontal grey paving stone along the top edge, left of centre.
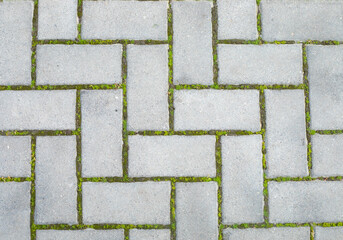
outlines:
[[81, 37], [167, 40], [167, 8], [167, 1], [84, 1]]

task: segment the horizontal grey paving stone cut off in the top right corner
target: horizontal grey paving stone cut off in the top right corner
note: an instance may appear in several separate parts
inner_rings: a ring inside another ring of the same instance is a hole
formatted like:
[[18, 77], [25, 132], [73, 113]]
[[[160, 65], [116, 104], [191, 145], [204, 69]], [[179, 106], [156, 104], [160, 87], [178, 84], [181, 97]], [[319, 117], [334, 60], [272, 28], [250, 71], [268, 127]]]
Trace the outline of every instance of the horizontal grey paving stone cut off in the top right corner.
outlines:
[[262, 38], [274, 40], [342, 40], [343, 2], [262, 0]]

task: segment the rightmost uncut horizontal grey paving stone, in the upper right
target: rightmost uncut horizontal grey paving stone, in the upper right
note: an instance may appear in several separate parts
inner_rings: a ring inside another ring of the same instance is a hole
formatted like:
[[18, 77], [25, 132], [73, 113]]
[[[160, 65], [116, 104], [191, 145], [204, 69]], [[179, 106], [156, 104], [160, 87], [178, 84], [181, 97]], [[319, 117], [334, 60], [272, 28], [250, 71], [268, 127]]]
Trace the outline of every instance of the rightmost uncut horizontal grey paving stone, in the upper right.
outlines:
[[220, 84], [302, 84], [300, 44], [218, 46]]

